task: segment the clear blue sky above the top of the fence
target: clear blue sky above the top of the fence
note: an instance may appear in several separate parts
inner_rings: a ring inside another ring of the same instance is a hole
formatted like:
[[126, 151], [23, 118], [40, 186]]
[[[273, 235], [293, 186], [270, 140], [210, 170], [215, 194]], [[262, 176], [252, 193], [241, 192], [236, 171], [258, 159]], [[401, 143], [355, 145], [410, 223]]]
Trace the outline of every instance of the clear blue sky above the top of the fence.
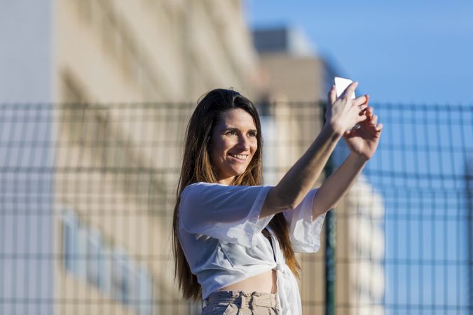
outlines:
[[302, 29], [373, 102], [473, 104], [473, 1], [247, 0], [249, 25]]

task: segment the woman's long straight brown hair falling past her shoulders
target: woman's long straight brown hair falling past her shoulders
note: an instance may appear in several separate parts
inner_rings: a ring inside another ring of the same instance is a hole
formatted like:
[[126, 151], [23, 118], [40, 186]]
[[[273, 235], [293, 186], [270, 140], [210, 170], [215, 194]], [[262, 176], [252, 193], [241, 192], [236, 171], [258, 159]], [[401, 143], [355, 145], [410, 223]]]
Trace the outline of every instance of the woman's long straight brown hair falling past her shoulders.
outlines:
[[[258, 148], [247, 169], [243, 174], [235, 176], [232, 185], [256, 186], [263, 183], [263, 139], [261, 137], [259, 115], [254, 104], [234, 90], [215, 89], [208, 92], [198, 102], [187, 125], [184, 159], [177, 187], [177, 202], [172, 218], [174, 279], [177, 279], [179, 289], [185, 299], [200, 300], [202, 298], [202, 287], [197, 281], [197, 276], [192, 274], [179, 242], [177, 211], [179, 210], [181, 193], [191, 183], [217, 183], [217, 174], [210, 162], [212, 132], [222, 114], [231, 109], [243, 109], [252, 116], [254, 125], [256, 125], [258, 143]], [[269, 226], [277, 235], [287, 265], [296, 276], [299, 276], [301, 267], [289, 241], [289, 231], [284, 215], [282, 213], [276, 214], [271, 219]]]

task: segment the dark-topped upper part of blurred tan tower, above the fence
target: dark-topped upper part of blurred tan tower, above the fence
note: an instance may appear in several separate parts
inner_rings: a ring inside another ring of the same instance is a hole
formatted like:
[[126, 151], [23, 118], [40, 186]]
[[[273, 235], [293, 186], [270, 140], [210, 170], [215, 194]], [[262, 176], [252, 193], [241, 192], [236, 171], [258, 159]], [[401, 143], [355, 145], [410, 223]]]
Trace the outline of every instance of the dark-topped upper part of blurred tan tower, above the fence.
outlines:
[[320, 102], [327, 99], [335, 69], [316, 55], [301, 29], [266, 27], [253, 31], [263, 89], [270, 101]]

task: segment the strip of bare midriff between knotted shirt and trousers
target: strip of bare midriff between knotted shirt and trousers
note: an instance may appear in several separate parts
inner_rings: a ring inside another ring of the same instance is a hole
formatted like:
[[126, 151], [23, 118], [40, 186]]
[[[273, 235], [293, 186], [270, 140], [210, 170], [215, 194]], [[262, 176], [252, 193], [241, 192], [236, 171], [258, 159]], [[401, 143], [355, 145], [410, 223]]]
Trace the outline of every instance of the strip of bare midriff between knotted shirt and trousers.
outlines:
[[277, 293], [277, 272], [273, 269], [248, 279], [219, 288], [219, 291], [245, 291], [245, 293]]

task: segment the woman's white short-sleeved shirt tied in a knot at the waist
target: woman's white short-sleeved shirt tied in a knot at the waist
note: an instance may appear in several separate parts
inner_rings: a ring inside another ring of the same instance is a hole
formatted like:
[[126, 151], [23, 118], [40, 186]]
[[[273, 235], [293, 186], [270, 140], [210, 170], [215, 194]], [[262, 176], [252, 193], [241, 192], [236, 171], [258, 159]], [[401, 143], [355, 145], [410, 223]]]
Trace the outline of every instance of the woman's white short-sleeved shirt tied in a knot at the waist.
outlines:
[[[282, 314], [302, 314], [296, 278], [286, 265], [277, 237], [268, 226], [273, 248], [261, 233], [274, 215], [259, 218], [270, 186], [227, 186], [193, 183], [181, 194], [179, 239], [191, 272], [202, 286], [203, 299], [210, 293], [250, 276], [277, 270], [277, 296]], [[315, 253], [325, 215], [313, 220], [310, 190], [294, 210], [283, 212], [292, 248]]]

